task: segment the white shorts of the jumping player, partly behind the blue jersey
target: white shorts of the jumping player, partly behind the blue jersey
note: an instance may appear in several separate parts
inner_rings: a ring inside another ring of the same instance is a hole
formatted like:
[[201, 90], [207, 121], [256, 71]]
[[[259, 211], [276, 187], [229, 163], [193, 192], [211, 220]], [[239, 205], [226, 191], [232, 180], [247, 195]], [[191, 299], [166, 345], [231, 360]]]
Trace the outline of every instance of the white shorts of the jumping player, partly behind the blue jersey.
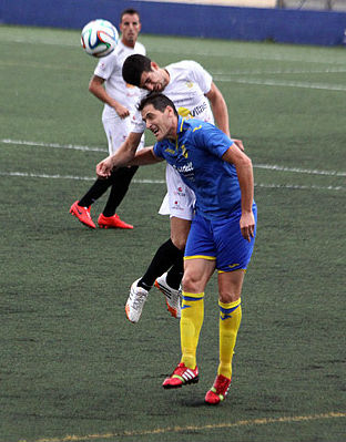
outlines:
[[195, 194], [170, 164], [166, 165], [166, 184], [167, 194], [159, 214], [191, 220], [194, 215]]

